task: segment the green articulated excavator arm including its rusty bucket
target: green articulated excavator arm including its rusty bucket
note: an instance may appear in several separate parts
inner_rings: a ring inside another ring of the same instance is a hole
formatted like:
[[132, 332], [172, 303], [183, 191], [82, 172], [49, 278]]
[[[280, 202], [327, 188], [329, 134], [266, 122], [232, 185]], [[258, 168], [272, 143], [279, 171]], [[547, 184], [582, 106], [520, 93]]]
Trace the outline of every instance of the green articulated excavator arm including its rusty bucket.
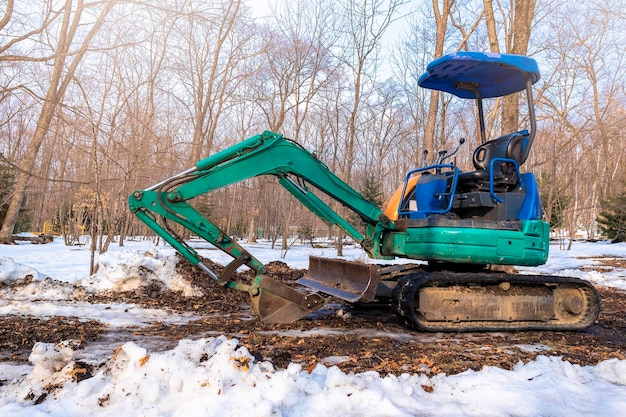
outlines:
[[[145, 190], [135, 191], [129, 198], [129, 207], [142, 222], [221, 285], [248, 291], [257, 314], [265, 321], [293, 321], [321, 307], [324, 299], [267, 277], [264, 265], [258, 259], [189, 204], [194, 197], [259, 175], [277, 177], [296, 199], [327, 224], [340, 227], [360, 243], [370, 257], [386, 258], [381, 252], [381, 235], [384, 230], [394, 230], [395, 225], [376, 205], [334, 175], [313, 154], [272, 132], [253, 136], [199, 161], [194, 168]], [[365, 233], [331, 209], [307, 184], [356, 213], [366, 224]], [[177, 235], [170, 222], [180, 224], [230, 254], [233, 260], [218, 275], [202, 263], [198, 253]], [[256, 273], [249, 285], [232, 280], [241, 265]]]

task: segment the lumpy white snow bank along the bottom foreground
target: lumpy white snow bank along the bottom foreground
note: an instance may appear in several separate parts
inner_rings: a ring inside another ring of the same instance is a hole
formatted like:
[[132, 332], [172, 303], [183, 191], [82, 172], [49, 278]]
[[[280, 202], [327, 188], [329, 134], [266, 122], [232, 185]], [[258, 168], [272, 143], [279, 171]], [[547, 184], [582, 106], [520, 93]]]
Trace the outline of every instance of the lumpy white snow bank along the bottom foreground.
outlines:
[[220, 336], [181, 340], [163, 352], [127, 342], [77, 381], [73, 350], [71, 342], [35, 345], [32, 370], [0, 386], [0, 414], [565, 417], [626, 410], [626, 361], [617, 359], [591, 367], [538, 356], [510, 371], [431, 377], [346, 374], [322, 364], [277, 371]]

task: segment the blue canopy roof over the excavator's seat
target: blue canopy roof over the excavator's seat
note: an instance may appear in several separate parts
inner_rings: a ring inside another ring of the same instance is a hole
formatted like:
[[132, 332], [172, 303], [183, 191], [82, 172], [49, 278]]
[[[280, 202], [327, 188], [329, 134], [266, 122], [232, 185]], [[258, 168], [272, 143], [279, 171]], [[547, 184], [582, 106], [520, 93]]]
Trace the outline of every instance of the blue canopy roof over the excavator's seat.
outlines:
[[525, 89], [526, 74], [532, 84], [541, 77], [537, 62], [527, 56], [456, 52], [428, 64], [418, 84], [461, 98], [476, 98], [474, 92], [459, 88], [469, 84], [478, 89], [484, 98], [500, 97]]

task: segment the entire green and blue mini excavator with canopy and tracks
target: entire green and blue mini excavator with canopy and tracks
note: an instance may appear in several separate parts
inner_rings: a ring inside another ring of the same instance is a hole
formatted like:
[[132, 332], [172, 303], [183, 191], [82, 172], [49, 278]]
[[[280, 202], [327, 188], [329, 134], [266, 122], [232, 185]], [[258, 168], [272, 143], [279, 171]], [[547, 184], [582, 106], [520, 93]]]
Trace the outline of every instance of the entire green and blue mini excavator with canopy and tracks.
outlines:
[[[385, 303], [408, 327], [423, 331], [582, 330], [595, 322], [600, 309], [590, 283], [494, 267], [539, 266], [548, 258], [550, 231], [542, 220], [537, 183], [531, 172], [521, 170], [537, 130], [532, 85], [539, 78], [537, 63], [526, 56], [458, 52], [431, 62], [419, 78], [421, 87], [476, 102], [481, 137], [472, 155], [474, 169], [463, 172], [448, 162], [461, 140], [453, 152], [440, 151], [434, 164], [408, 172], [384, 211], [314, 153], [267, 131], [135, 191], [129, 208], [211, 279], [248, 292], [255, 313], [267, 323], [298, 320], [338, 298]], [[487, 140], [483, 99], [523, 91], [529, 129]], [[271, 278], [252, 253], [190, 202], [261, 175], [276, 177], [321, 220], [358, 242], [371, 259], [422, 262], [379, 265], [311, 257], [308, 272], [296, 284]], [[325, 202], [329, 199], [358, 216], [362, 225], [333, 210]], [[232, 261], [220, 273], [213, 271], [172, 223], [228, 253]], [[234, 279], [243, 265], [255, 274], [250, 282]]]

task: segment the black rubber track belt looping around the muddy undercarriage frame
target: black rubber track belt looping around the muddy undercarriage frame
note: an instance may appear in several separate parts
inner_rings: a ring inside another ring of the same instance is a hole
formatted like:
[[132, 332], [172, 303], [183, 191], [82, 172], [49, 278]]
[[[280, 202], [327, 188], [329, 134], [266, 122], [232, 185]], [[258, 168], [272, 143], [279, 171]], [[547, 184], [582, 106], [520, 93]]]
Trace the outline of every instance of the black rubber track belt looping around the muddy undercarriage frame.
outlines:
[[[429, 322], [416, 312], [415, 298], [423, 287], [449, 287], [454, 285], [497, 285], [510, 282], [511, 285], [529, 287], [546, 284], [573, 284], [583, 291], [586, 298], [586, 311], [581, 313], [576, 323], [555, 323], [554, 321], [467, 321], [467, 322]], [[408, 274], [398, 279], [393, 289], [392, 306], [408, 327], [431, 332], [451, 331], [577, 331], [595, 323], [600, 312], [600, 298], [596, 289], [587, 281], [549, 275], [509, 275], [504, 273], [458, 273], [458, 272], [421, 272]]]

